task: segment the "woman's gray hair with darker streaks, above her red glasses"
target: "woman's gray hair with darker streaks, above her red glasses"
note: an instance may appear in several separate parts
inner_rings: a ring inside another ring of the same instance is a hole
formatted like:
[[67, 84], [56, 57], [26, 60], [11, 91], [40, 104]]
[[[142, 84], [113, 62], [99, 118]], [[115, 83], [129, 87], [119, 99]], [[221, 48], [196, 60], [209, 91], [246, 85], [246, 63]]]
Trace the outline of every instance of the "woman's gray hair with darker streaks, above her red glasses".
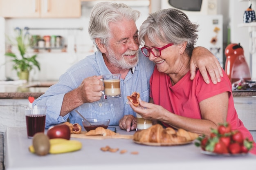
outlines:
[[181, 44], [187, 42], [186, 53], [191, 57], [198, 40], [198, 25], [177, 9], [162, 9], [149, 14], [139, 29], [139, 42], [144, 46], [145, 36], [156, 45], [156, 40], [165, 43]]

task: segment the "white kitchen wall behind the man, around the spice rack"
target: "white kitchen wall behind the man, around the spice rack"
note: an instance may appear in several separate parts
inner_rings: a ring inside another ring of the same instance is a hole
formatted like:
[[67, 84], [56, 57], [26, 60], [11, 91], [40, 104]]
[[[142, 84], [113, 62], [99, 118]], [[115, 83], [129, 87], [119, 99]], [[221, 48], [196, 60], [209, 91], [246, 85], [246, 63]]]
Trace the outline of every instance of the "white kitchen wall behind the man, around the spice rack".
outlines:
[[[83, 28], [80, 30], [29, 30], [31, 35], [61, 35], [65, 38], [65, 44], [68, 44], [68, 38], [74, 38], [76, 44], [76, 51], [70, 50], [67, 53], [61, 52], [61, 50], [52, 50], [51, 53], [40, 50], [38, 53], [38, 61], [40, 62], [41, 71], [33, 70], [31, 71], [30, 80], [58, 80], [58, 77], [63, 74], [67, 68], [73, 65], [75, 62], [81, 60], [82, 58], [90, 55], [96, 48], [93, 46], [88, 34], [88, 22], [90, 17], [90, 11], [92, 5], [89, 2], [83, 2], [82, 5], [82, 16], [81, 18], [64, 18], [64, 19], [43, 19], [43, 18], [9, 18], [5, 19], [5, 30], [6, 34], [10, 37], [14, 37], [14, 28], [29, 27], [29, 28]], [[141, 12], [141, 17], [137, 21], [137, 27], [142, 24], [149, 13], [148, 4], [131, 6], [133, 9], [137, 9]], [[67, 48], [69, 49], [69, 48]], [[71, 48], [72, 49], [72, 48]], [[17, 51], [12, 48], [12, 51]], [[33, 50], [29, 50], [30, 54]], [[5, 57], [7, 60], [5, 75], [12, 79], [17, 79], [16, 71], [12, 70], [12, 64], [9, 62], [10, 58]]]

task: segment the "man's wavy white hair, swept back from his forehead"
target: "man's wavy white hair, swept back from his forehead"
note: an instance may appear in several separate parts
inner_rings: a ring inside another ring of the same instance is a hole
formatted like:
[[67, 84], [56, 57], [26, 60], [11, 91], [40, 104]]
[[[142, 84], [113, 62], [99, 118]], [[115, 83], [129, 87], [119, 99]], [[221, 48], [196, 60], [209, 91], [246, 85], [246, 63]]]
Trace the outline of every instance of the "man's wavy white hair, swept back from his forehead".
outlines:
[[93, 43], [97, 46], [95, 38], [99, 38], [101, 39], [101, 43], [108, 44], [108, 40], [111, 38], [109, 29], [110, 22], [118, 23], [124, 18], [136, 22], [140, 15], [141, 13], [139, 11], [123, 3], [97, 3], [92, 8], [89, 22], [89, 34]]

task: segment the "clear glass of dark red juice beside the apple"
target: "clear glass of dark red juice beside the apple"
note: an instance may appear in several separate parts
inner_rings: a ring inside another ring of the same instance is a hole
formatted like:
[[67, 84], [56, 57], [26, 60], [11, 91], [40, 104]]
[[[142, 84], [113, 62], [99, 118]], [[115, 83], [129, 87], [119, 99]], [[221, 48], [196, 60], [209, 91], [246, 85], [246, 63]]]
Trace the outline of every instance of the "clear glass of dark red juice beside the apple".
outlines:
[[45, 132], [46, 106], [26, 106], [25, 115], [28, 138], [33, 138], [37, 132]]

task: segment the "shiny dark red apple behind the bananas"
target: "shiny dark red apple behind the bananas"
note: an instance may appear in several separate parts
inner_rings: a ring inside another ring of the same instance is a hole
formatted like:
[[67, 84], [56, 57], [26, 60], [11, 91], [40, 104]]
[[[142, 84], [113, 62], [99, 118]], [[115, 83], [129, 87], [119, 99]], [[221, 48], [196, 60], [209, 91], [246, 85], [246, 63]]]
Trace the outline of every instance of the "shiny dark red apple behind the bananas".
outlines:
[[52, 126], [48, 129], [47, 136], [49, 139], [63, 138], [69, 140], [70, 128], [65, 124]]

